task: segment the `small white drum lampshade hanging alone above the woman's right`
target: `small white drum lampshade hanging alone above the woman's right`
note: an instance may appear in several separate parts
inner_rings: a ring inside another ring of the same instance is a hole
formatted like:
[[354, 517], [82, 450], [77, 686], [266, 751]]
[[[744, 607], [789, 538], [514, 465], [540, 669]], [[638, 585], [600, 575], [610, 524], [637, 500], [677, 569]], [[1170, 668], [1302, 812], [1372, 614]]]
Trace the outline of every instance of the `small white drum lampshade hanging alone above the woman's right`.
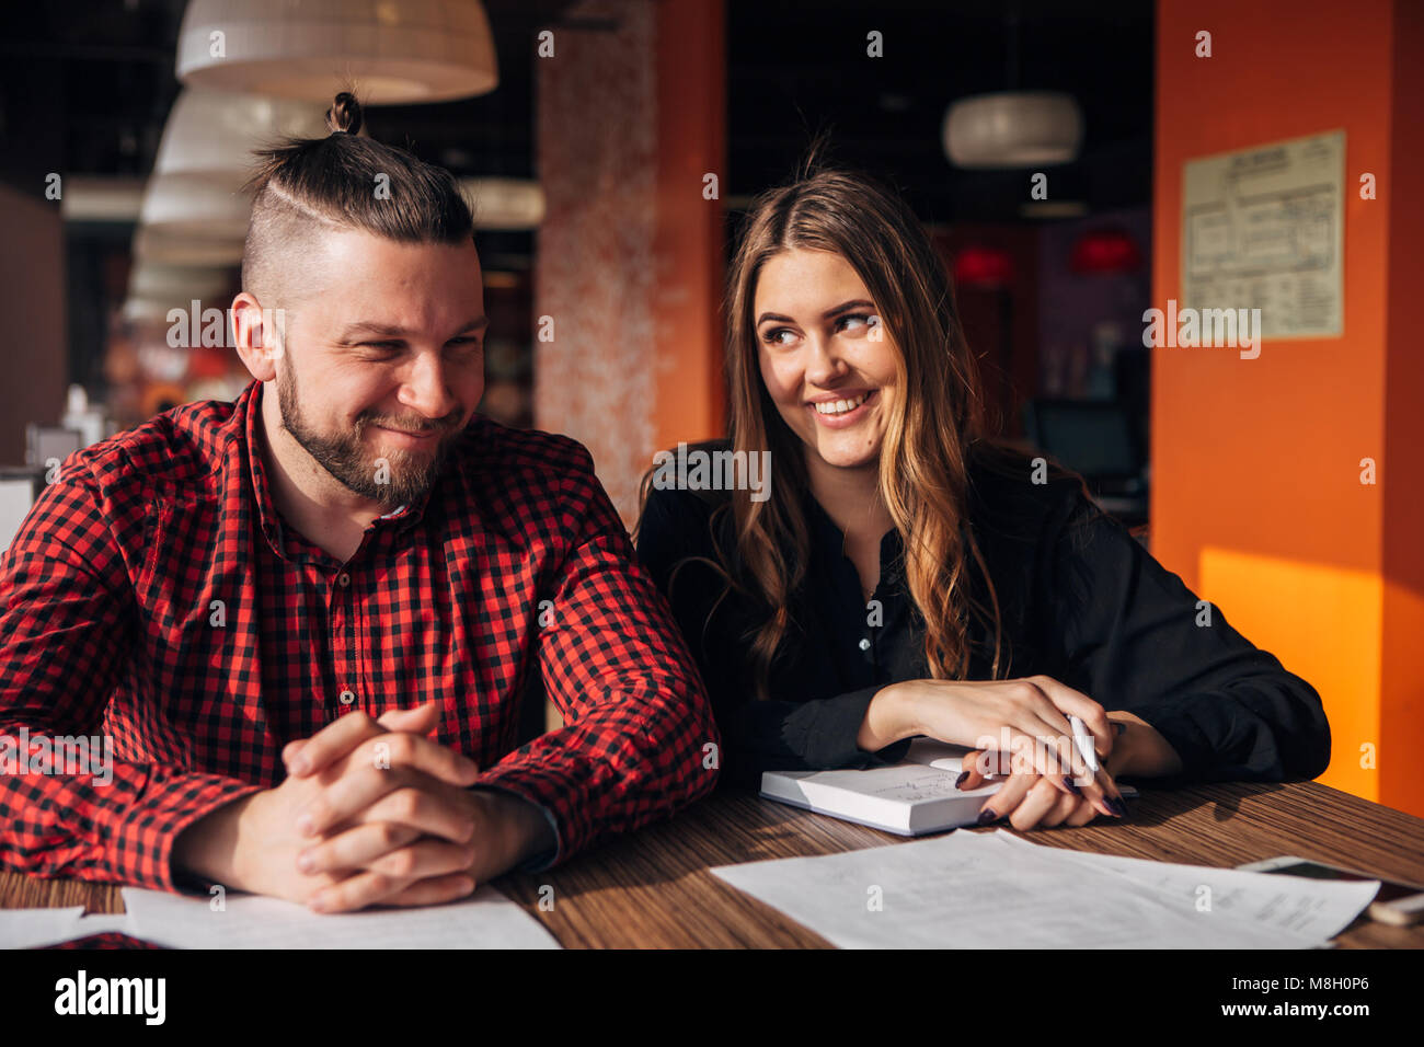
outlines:
[[1082, 113], [1058, 91], [978, 94], [950, 105], [943, 137], [956, 167], [1068, 164], [1082, 145]]

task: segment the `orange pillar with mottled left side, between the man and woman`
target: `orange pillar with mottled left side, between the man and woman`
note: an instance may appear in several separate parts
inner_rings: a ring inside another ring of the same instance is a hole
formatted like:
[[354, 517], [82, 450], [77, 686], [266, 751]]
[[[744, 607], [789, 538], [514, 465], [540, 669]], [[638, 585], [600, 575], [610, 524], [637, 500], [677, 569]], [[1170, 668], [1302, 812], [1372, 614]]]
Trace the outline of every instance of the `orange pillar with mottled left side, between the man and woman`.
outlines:
[[725, 14], [721, 0], [591, 14], [607, 27], [555, 28], [535, 60], [534, 419], [590, 449], [631, 524], [654, 453], [723, 426]]

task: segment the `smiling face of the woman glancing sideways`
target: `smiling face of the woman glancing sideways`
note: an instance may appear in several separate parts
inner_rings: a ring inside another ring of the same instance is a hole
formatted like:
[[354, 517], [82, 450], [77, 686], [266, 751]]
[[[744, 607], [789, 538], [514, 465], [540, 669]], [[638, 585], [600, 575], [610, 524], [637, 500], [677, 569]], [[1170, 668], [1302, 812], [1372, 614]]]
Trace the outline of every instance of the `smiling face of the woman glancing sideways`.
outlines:
[[762, 380], [807, 464], [879, 462], [897, 350], [850, 264], [830, 251], [773, 255], [756, 281], [752, 316]]

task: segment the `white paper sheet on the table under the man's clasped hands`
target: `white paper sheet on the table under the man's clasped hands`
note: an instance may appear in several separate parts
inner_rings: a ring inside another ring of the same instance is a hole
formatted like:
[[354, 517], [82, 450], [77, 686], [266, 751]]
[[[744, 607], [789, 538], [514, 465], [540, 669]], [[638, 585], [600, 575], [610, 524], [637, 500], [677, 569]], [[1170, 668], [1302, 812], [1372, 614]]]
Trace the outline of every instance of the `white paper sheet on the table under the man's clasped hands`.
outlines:
[[554, 936], [494, 887], [441, 906], [313, 913], [256, 895], [211, 899], [124, 887], [130, 934], [171, 949], [558, 949]]

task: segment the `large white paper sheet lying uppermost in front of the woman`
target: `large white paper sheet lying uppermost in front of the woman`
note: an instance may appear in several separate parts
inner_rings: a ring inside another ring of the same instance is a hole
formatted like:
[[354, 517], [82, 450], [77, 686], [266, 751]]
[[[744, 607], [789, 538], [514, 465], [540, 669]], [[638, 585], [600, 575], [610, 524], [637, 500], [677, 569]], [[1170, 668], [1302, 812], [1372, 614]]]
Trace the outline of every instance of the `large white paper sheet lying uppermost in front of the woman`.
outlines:
[[956, 832], [712, 872], [842, 949], [1304, 949], [1300, 934], [1183, 915], [1109, 869]]

